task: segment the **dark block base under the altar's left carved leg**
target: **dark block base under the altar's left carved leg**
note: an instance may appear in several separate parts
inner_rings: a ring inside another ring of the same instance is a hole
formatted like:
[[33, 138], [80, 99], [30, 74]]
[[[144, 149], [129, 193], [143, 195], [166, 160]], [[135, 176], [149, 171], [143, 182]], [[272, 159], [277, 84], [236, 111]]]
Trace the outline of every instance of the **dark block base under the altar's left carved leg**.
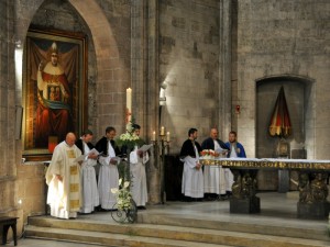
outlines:
[[230, 199], [230, 213], [260, 213], [260, 198]]

